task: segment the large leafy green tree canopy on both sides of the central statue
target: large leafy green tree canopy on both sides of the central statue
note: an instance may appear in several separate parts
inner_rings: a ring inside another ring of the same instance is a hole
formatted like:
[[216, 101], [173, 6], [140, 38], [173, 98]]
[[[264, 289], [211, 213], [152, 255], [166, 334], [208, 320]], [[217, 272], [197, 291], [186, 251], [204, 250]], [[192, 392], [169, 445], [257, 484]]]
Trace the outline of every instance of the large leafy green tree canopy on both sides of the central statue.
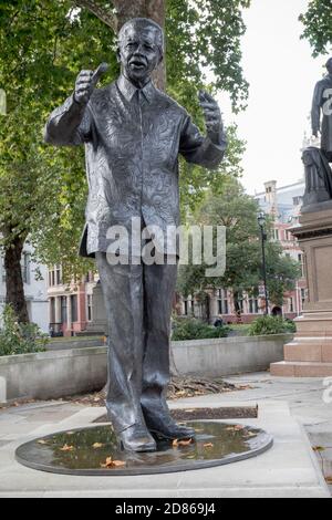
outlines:
[[[98, 4], [110, 10], [108, 1]], [[242, 9], [249, 0], [169, 0], [167, 2], [167, 91], [204, 129], [197, 92], [222, 89], [236, 111], [245, 106], [240, 38]], [[195, 30], [193, 30], [195, 29]], [[64, 279], [92, 268], [77, 257], [87, 195], [84, 150], [43, 144], [51, 111], [73, 91], [76, 74], [110, 64], [104, 82], [118, 74], [115, 34], [86, 9], [70, 0], [15, 0], [0, 4], [0, 87], [8, 115], [0, 125], [0, 246], [15, 236], [35, 248], [44, 263], [62, 263]], [[214, 77], [207, 84], [206, 71]], [[206, 187], [219, 189], [228, 175], [241, 173], [243, 143], [228, 128], [226, 160], [217, 173], [181, 163], [181, 214], [194, 210]]]

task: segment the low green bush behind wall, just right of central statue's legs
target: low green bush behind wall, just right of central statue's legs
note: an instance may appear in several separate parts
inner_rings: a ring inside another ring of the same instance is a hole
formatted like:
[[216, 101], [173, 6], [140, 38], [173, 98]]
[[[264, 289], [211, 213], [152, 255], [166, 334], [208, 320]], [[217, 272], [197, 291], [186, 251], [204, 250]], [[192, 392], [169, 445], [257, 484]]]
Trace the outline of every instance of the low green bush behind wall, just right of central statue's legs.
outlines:
[[228, 333], [228, 326], [211, 326], [195, 318], [184, 318], [176, 322], [172, 340], [208, 340], [212, 337], [227, 337]]

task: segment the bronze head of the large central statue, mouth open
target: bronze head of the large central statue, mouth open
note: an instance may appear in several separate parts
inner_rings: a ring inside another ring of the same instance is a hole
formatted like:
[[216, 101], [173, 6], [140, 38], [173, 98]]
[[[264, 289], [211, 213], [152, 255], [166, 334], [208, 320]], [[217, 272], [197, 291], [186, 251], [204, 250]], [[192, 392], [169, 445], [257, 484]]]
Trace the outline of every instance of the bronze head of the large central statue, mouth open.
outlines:
[[164, 32], [153, 20], [134, 18], [118, 32], [117, 59], [133, 83], [146, 82], [164, 56]]

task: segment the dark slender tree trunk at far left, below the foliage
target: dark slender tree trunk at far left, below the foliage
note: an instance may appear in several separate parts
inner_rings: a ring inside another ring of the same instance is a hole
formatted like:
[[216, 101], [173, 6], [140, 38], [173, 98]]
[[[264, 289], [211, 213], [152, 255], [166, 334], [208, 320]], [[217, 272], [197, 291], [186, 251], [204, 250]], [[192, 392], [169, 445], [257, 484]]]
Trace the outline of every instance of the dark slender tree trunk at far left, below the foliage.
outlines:
[[23, 246], [24, 239], [17, 237], [10, 246], [4, 248], [6, 303], [12, 305], [20, 323], [28, 323], [29, 314], [21, 269]]

